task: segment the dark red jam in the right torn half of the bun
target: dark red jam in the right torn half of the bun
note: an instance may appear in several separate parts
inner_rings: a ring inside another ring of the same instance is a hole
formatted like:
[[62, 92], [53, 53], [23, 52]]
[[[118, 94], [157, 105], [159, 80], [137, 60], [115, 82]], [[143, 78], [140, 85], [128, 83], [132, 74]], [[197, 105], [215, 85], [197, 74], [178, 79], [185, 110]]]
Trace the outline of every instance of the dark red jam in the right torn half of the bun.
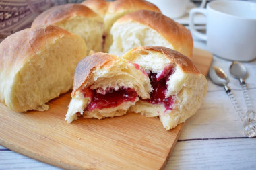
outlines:
[[153, 88], [153, 91], [150, 93], [150, 99], [143, 99], [143, 101], [147, 101], [152, 104], [164, 104], [166, 110], [172, 110], [172, 104], [174, 103], [174, 99], [172, 96], [165, 97], [167, 84], [170, 75], [174, 73], [174, 69], [172, 65], [167, 65], [164, 67], [164, 70], [160, 74], [152, 73], [151, 71], [148, 73], [150, 77], [150, 83]]

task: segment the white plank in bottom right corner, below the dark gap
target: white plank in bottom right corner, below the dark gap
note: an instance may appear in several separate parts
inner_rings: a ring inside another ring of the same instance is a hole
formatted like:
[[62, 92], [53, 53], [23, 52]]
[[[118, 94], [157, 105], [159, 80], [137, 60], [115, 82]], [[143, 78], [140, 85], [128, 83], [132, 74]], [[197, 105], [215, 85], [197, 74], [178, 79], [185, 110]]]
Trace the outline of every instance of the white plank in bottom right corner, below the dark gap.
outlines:
[[256, 138], [177, 142], [165, 169], [255, 169]]

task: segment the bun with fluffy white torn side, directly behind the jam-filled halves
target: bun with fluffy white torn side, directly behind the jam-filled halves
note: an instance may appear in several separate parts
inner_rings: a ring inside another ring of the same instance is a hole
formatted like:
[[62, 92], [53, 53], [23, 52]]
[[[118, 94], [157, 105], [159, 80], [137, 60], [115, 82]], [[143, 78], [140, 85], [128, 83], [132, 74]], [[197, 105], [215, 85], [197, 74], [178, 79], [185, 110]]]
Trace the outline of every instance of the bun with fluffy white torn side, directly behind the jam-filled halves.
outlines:
[[109, 53], [122, 56], [137, 46], [164, 46], [191, 57], [193, 38], [189, 30], [155, 11], [129, 13], [113, 24]]

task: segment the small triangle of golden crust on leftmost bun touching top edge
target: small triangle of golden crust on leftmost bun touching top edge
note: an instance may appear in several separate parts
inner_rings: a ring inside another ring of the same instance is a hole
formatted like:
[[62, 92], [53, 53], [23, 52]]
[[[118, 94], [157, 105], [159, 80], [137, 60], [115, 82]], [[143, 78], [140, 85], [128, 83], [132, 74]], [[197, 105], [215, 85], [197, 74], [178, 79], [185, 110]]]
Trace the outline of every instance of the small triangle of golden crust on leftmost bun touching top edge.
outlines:
[[111, 2], [106, 0], [86, 0], [82, 2], [82, 5], [89, 7], [95, 13], [98, 13], [101, 17], [104, 17], [106, 11], [108, 11], [108, 5]]

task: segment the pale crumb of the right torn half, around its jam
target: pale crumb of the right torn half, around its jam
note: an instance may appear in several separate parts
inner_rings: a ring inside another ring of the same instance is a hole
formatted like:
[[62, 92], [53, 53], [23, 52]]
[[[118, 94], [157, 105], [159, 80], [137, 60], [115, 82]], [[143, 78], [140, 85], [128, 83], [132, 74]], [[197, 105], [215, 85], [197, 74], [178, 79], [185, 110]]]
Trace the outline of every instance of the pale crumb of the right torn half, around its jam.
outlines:
[[[185, 71], [180, 64], [166, 58], [164, 52], [154, 50], [141, 48], [141, 50], [128, 52], [123, 58], [131, 60], [146, 71], [153, 73], [161, 73], [164, 66], [168, 64], [174, 67], [174, 73], [170, 75], [166, 83], [168, 85], [166, 97], [172, 95], [174, 98], [172, 109], [166, 110], [164, 104], [151, 104], [139, 100], [130, 108], [131, 112], [140, 113], [147, 117], [159, 116], [166, 130], [185, 122], [187, 118], [197, 112], [207, 93], [207, 81], [201, 73]], [[186, 66], [186, 63], [184, 65], [183, 67], [189, 67]]]

